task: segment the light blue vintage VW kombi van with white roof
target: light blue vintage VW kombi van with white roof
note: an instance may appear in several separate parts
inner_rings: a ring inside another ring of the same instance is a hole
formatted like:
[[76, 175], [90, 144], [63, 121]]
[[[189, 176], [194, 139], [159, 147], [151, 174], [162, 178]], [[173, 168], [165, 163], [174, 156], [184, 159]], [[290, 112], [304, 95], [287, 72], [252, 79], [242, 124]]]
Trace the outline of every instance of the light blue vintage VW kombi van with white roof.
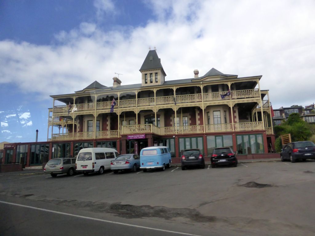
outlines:
[[156, 146], [143, 148], [140, 151], [140, 169], [146, 172], [148, 169], [171, 167], [171, 153], [168, 147]]

